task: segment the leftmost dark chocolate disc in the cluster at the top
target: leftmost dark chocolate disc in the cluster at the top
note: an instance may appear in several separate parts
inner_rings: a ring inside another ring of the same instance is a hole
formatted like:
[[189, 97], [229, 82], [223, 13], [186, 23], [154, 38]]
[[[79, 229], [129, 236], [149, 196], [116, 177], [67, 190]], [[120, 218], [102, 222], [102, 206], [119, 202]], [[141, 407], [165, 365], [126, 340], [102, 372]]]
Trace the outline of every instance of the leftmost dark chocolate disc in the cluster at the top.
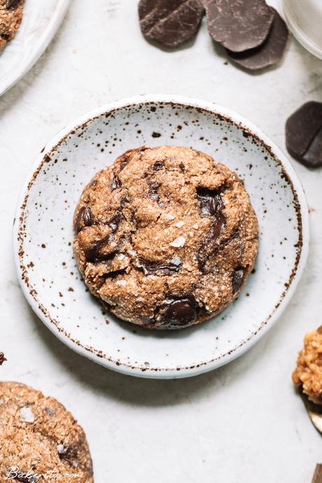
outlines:
[[193, 38], [203, 15], [204, 8], [199, 0], [139, 1], [142, 33], [167, 47], [177, 47]]

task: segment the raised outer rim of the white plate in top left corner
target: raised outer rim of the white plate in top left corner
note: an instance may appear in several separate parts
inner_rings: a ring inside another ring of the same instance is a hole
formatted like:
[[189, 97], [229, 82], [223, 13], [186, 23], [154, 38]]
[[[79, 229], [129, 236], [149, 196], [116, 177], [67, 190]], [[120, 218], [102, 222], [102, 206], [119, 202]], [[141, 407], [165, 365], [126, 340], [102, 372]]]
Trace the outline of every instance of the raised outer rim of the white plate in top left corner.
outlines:
[[[69, 3], [71, 0], [58, 0], [57, 7], [55, 9], [55, 13], [52, 15], [50, 22], [48, 23], [48, 27], [45, 29], [43, 34], [39, 37], [37, 43], [35, 43], [34, 48], [31, 52], [31, 55], [27, 57], [25, 63], [20, 65], [19, 70], [14, 70], [10, 75], [6, 76], [3, 81], [0, 83], [0, 96], [7, 92], [13, 85], [19, 82], [22, 77], [26, 75], [27, 72], [31, 69], [34, 64], [36, 64], [37, 60], [43, 52], [45, 52], [46, 48], [52, 41], [52, 38], [55, 36], [59, 25], [62, 23], [64, 16], [66, 15], [67, 8], [69, 7]], [[13, 42], [15, 39], [13, 39]]]

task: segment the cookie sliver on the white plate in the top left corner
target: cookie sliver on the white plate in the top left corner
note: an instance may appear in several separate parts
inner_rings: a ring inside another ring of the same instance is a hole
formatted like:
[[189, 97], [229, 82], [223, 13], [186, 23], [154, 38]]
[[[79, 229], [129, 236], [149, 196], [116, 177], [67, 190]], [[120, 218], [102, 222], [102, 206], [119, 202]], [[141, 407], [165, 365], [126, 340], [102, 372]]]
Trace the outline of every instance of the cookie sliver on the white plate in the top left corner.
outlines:
[[0, 50], [13, 39], [22, 22], [25, 0], [0, 0]]

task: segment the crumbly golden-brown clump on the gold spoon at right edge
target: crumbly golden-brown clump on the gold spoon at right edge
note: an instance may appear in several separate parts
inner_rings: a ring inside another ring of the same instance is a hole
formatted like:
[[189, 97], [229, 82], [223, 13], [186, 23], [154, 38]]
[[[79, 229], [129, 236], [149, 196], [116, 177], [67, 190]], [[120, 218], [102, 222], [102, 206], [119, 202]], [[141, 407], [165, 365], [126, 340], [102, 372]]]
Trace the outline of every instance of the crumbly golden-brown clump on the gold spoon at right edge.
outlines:
[[322, 404], [322, 327], [304, 337], [304, 349], [300, 351], [293, 382], [302, 386], [309, 400]]

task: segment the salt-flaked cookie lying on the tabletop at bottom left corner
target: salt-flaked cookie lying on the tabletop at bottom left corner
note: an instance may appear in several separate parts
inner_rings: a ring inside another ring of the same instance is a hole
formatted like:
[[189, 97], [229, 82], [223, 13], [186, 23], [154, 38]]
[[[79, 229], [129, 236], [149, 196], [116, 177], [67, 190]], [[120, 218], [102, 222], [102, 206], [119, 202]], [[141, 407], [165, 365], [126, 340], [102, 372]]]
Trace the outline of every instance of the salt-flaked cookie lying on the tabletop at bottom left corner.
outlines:
[[0, 480], [92, 483], [85, 434], [55, 399], [0, 382]]

